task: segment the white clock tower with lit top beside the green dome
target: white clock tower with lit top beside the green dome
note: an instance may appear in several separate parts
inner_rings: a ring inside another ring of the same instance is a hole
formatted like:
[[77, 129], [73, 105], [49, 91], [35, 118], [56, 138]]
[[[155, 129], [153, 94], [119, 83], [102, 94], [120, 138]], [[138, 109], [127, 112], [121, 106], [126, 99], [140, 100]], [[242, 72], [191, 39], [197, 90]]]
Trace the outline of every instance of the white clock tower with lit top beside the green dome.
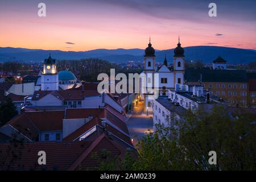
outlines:
[[59, 76], [56, 69], [55, 59], [51, 54], [44, 60], [44, 67], [41, 77], [41, 90], [59, 90]]

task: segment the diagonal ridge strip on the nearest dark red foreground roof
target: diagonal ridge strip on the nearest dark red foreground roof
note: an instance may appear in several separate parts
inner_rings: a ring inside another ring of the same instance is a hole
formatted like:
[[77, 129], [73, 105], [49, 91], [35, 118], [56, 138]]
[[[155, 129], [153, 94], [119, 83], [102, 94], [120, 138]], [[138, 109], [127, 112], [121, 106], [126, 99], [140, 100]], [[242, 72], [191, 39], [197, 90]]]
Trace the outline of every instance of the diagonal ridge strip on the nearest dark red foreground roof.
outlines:
[[96, 140], [94, 140], [90, 144], [90, 146], [86, 148], [84, 152], [82, 152], [82, 154], [75, 160], [75, 162], [73, 162], [71, 166], [69, 166], [67, 171], [74, 171], [79, 166], [79, 164], [86, 158], [86, 156], [88, 156], [90, 152], [98, 145], [98, 143], [101, 142], [103, 138], [105, 138], [105, 133], [100, 135], [100, 137], [98, 137]]

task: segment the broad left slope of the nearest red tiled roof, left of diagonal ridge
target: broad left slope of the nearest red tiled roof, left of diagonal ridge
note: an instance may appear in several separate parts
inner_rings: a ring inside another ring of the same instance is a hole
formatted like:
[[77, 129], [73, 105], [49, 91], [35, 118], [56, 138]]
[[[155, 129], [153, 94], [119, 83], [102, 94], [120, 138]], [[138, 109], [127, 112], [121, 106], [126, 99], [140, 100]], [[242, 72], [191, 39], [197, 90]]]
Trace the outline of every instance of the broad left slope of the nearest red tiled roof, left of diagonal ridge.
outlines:
[[[14, 163], [10, 170], [67, 170], [69, 166], [90, 146], [92, 142], [32, 142], [25, 143], [22, 150], [13, 148], [15, 152], [22, 152], [19, 159]], [[6, 158], [9, 144], [0, 144], [2, 154], [0, 158]], [[19, 150], [19, 151], [18, 151]], [[45, 151], [47, 155], [46, 165], [38, 164], [38, 152]], [[7, 162], [11, 157], [7, 158]], [[2, 161], [2, 160], [1, 160]], [[7, 168], [7, 165], [3, 165]]]

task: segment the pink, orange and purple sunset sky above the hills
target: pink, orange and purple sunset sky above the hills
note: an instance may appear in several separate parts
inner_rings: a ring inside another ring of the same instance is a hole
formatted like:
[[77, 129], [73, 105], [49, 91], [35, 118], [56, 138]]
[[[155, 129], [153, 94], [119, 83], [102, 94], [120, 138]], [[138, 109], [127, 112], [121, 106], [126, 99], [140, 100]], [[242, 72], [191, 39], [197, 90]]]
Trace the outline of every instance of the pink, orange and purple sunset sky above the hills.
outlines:
[[[46, 3], [46, 17], [38, 4]], [[217, 17], [208, 16], [210, 2]], [[256, 1], [0, 1], [0, 47], [88, 51], [181, 45], [256, 49]]]

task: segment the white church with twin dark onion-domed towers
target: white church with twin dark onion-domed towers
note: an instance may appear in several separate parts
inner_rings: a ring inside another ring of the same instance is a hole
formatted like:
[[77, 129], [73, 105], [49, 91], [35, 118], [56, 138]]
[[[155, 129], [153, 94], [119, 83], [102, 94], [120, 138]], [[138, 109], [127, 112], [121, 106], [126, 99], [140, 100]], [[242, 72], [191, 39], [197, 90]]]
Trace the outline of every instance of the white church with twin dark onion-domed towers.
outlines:
[[[141, 100], [144, 100], [144, 111], [152, 111], [152, 99], [154, 94], [166, 96], [168, 89], [174, 89], [175, 84], [183, 84], [185, 72], [184, 49], [181, 47], [180, 38], [177, 47], [174, 49], [173, 66], [168, 67], [167, 57], [163, 60], [161, 67], [155, 65], [155, 49], [151, 41], [145, 49], [144, 69], [140, 78]], [[154, 89], [151, 92], [150, 88]]]

